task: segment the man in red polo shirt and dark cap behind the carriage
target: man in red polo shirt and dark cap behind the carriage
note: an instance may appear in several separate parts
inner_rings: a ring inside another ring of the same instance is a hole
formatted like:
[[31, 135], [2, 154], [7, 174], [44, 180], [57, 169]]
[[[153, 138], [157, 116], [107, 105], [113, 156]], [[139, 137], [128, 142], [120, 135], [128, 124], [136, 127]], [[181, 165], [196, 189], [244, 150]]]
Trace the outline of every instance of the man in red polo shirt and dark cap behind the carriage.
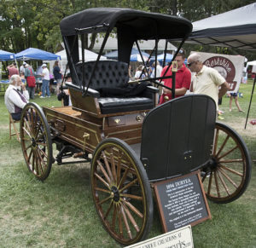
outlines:
[[[191, 83], [191, 72], [189, 72], [189, 69], [185, 66], [185, 50], [180, 49], [177, 53], [176, 58], [174, 61], [177, 61], [177, 72], [176, 72], [176, 80], [175, 80], [175, 98], [185, 95], [187, 90], [190, 87]], [[160, 77], [164, 76], [172, 76], [172, 66], [169, 67], [165, 66], [161, 72]], [[172, 78], [166, 78], [163, 79], [163, 82], [166, 86], [172, 88]], [[169, 101], [172, 99], [172, 92], [169, 89], [163, 88], [163, 94], [160, 96], [160, 104], [165, 103], [166, 101]]]

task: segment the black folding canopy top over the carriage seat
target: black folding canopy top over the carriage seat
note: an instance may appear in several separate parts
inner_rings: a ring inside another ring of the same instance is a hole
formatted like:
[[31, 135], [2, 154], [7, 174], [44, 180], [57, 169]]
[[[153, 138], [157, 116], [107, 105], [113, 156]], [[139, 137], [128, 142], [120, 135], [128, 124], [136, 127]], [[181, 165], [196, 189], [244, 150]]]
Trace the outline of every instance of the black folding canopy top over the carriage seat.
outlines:
[[[131, 48], [137, 40], [185, 39], [192, 31], [191, 22], [184, 18], [135, 9], [85, 9], [61, 20], [61, 34], [64, 42], [66, 37], [69, 48], [78, 34], [106, 32], [108, 36], [114, 27], [117, 28], [118, 49], [121, 51], [119, 61], [126, 63], [130, 62]], [[73, 62], [78, 62], [78, 56]]]

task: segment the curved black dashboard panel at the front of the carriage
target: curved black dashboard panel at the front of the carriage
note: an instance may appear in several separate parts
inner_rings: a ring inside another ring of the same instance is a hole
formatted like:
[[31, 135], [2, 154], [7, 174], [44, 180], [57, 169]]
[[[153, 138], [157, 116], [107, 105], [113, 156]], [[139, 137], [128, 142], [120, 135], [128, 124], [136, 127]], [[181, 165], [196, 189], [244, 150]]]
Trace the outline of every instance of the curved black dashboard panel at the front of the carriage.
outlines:
[[181, 176], [207, 163], [215, 120], [215, 102], [207, 95], [185, 95], [149, 112], [141, 147], [148, 179]]

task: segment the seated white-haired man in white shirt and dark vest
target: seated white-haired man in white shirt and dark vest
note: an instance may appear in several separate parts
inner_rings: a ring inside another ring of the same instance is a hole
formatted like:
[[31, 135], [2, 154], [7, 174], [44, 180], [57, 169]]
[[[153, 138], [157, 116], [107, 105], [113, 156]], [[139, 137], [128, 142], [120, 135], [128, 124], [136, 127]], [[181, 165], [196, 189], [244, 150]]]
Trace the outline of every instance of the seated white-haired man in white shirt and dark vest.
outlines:
[[9, 79], [9, 87], [4, 94], [4, 103], [13, 119], [20, 120], [22, 108], [28, 101], [26, 85], [22, 83], [19, 75], [13, 75]]

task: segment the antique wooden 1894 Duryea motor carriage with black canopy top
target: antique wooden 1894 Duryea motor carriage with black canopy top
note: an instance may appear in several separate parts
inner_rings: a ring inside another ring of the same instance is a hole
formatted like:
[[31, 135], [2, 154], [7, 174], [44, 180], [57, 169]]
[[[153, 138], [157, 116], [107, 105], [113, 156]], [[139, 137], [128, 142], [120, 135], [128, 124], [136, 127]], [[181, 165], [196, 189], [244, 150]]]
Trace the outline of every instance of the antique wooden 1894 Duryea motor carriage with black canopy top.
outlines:
[[[207, 198], [229, 203], [245, 192], [250, 180], [247, 147], [235, 130], [216, 122], [212, 98], [185, 95], [157, 106], [159, 89], [154, 86], [162, 78], [128, 83], [134, 43], [140, 51], [139, 40], [153, 39], [157, 54], [160, 39], [184, 42], [191, 30], [189, 20], [133, 9], [85, 9], [68, 16], [61, 20], [61, 34], [73, 106], [42, 109], [28, 103], [21, 115], [28, 169], [44, 181], [55, 161], [70, 164], [65, 159], [73, 157], [90, 162], [96, 211], [122, 245], [146, 239], [153, 222], [155, 182], [201, 170]], [[118, 60], [100, 61], [112, 32], [118, 37]], [[96, 61], [84, 62], [84, 53], [80, 61], [79, 49], [84, 50], [84, 37], [91, 33], [104, 33], [102, 49]], [[53, 143], [59, 151], [55, 158]]]

